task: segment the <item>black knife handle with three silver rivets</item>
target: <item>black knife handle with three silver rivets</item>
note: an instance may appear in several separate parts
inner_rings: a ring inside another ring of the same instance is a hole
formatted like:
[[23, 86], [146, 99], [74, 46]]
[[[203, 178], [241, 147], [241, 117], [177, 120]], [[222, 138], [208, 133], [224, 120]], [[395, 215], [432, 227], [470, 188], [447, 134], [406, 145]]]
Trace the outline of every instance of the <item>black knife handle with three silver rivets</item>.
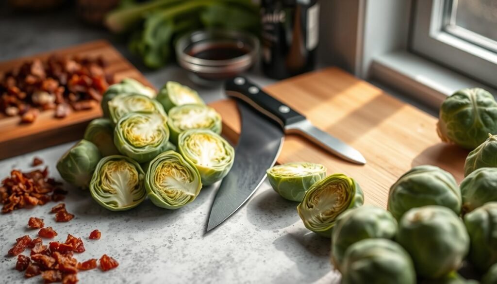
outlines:
[[245, 77], [235, 77], [225, 83], [226, 95], [244, 100], [256, 110], [276, 120], [284, 128], [305, 120], [305, 116], [268, 95]]

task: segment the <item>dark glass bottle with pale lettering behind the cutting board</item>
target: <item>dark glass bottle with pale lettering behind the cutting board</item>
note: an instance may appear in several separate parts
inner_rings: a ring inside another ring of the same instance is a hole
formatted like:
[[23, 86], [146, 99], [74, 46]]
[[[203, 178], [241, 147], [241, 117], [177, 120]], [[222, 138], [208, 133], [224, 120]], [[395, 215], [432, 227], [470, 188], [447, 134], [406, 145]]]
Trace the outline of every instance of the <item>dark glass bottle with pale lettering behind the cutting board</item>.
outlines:
[[315, 68], [318, 0], [262, 0], [261, 21], [264, 74], [284, 79]]

